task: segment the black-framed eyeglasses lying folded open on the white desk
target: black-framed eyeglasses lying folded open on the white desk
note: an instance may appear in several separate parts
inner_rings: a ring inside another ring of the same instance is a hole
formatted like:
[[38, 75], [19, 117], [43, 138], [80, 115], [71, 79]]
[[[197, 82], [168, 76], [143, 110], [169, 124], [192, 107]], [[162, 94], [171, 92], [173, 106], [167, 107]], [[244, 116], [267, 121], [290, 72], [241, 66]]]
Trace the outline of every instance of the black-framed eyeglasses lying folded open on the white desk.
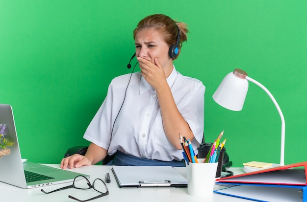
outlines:
[[[84, 180], [86, 180], [86, 181], [84, 181]], [[108, 188], [107, 188], [106, 184], [104, 183], [104, 181], [97, 178], [96, 180], [93, 181], [93, 185], [92, 185], [91, 182], [84, 176], [77, 176], [74, 179], [74, 182], [73, 182], [72, 185], [65, 186], [65, 187], [62, 187], [62, 188], [59, 188], [59, 189], [55, 189], [55, 190], [50, 191], [50, 192], [46, 192], [43, 189], [41, 189], [41, 191], [45, 194], [50, 194], [50, 193], [53, 193], [53, 192], [57, 192], [57, 191], [61, 191], [61, 190], [64, 190], [64, 189], [69, 189], [69, 188], [76, 188], [76, 189], [91, 189], [91, 188], [93, 188], [94, 190], [101, 193], [101, 195], [98, 195], [97, 197], [94, 197], [94, 198], [91, 198], [91, 199], [88, 199], [88, 200], [84, 200], [84, 201], [79, 200], [79, 199], [77, 199], [77, 198], [75, 198], [71, 195], [68, 196], [69, 198], [74, 199], [78, 202], [88, 202], [88, 201], [98, 199], [98, 198], [101, 198], [101, 197], [109, 194]]]

